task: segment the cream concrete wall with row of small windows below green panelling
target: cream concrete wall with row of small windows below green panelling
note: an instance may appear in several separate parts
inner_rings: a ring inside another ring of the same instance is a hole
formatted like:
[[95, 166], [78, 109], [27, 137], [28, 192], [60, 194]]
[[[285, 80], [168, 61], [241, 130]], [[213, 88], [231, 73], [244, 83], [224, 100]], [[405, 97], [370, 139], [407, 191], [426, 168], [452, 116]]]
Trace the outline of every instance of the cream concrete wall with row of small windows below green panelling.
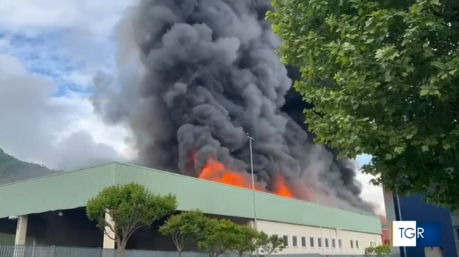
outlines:
[[[381, 235], [379, 234], [368, 234], [340, 230], [337, 228], [320, 228], [287, 223], [275, 223], [266, 220], [257, 220], [257, 228], [266, 232], [268, 235], [287, 237], [288, 246], [281, 252], [282, 254], [321, 253], [335, 256], [340, 256], [341, 254], [363, 255], [365, 248], [371, 246], [370, 242], [373, 242], [376, 245], [381, 244]], [[294, 246], [293, 244], [295, 237], [297, 240], [297, 246]], [[305, 237], [306, 246], [302, 246], [302, 237]], [[318, 247], [318, 238], [323, 238], [323, 248]], [[325, 239], [328, 239], [328, 247], [325, 247]], [[335, 248], [332, 247], [333, 239], [335, 239]], [[339, 247], [339, 239], [341, 239], [342, 242], [341, 249]], [[311, 240], [313, 241], [313, 246], [311, 246]]]

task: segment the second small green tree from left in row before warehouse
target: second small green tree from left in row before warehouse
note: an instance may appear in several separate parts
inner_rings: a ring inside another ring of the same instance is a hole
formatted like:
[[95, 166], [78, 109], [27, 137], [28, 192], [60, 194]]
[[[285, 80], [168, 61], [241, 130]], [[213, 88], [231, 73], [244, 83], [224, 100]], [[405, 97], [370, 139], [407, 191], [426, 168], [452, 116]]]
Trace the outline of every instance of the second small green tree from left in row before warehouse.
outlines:
[[208, 218], [199, 210], [171, 216], [160, 227], [160, 233], [172, 237], [179, 256], [186, 245], [198, 242], [206, 235]]

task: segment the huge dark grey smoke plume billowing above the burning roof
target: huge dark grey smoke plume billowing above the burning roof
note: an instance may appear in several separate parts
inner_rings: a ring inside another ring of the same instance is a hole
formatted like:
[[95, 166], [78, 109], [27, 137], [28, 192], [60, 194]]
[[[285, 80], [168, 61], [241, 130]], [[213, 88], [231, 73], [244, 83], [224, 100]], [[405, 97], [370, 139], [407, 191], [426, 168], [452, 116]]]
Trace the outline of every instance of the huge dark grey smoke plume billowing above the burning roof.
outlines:
[[247, 171], [249, 133], [267, 189], [282, 173], [321, 202], [373, 211], [359, 197], [354, 163], [306, 133], [308, 106], [290, 78], [298, 72], [274, 52], [269, 8], [269, 0], [141, 1], [117, 31], [119, 84], [96, 78], [96, 110], [130, 125], [143, 165], [198, 176], [214, 157]]

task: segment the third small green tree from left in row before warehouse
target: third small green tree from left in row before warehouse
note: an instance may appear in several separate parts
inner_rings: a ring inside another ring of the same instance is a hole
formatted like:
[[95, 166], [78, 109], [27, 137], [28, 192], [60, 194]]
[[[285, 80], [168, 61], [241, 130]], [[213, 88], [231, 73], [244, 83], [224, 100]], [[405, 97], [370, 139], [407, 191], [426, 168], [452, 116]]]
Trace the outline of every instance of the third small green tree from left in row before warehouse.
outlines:
[[233, 249], [241, 236], [242, 231], [238, 224], [230, 220], [209, 218], [205, 237], [201, 238], [198, 246], [209, 257], [217, 257], [230, 249]]

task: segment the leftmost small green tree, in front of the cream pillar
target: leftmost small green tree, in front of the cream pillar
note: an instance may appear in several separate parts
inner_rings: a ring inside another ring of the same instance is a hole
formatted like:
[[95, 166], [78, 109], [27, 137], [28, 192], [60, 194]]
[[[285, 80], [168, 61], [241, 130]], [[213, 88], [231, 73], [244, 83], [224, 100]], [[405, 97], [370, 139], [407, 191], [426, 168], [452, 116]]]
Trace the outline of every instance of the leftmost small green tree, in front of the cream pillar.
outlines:
[[[86, 215], [96, 220], [98, 228], [117, 243], [118, 256], [124, 255], [129, 237], [155, 220], [173, 213], [177, 203], [174, 195], [154, 195], [143, 185], [131, 183], [105, 187], [86, 204]], [[115, 225], [105, 219], [110, 215]], [[113, 236], [114, 235], [114, 236]]]

